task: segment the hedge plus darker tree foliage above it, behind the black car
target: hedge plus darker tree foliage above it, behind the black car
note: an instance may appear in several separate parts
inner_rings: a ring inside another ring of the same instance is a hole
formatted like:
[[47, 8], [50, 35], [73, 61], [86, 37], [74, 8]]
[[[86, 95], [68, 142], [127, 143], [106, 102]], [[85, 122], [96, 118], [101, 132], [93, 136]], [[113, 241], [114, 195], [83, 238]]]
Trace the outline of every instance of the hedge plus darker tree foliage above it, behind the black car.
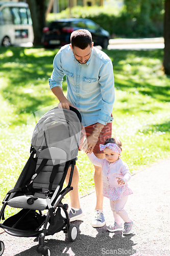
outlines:
[[[112, 6], [81, 7], [71, 9], [71, 16], [75, 18], [89, 18], [107, 30], [113, 37], [153, 37], [163, 34], [163, 5], [150, 0], [127, 1], [122, 9]], [[49, 14], [47, 21], [55, 18], [68, 18], [69, 9], [58, 14]]]

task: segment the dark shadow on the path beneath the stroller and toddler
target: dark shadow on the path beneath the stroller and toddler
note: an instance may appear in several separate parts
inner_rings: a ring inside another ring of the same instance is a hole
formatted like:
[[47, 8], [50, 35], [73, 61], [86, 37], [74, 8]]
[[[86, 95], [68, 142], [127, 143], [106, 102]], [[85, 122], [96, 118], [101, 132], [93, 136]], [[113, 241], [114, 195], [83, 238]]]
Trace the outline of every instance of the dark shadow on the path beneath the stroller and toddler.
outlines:
[[[134, 234], [128, 236], [122, 235], [122, 232], [117, 231], [115, 233], [109, 233], [106, 230], [106, 226], [96, 229], [98, 234], [96, 237], [91, 237], [89, 235], [83, 234], [80, 230], [80, 226], [83, 221], [74, 222], [78, 228], [78, 238], [74, 243], [68, 241], [67, 234], [65, 235], [64, 240], [49, 239], [46, 237], [45, 245], [51, 249], [52, 256], [60, 255], [126, 255], [130, 256], [135, 254], [136, 250], [133, 249], [135, 246], [131, 238]], [[88, 232], [85, 230], [85, 233]], [[15, 256], [29, 256], [29, 255], [38, 255], [36, 254], [36, 246], [23, 251], [21, 253], [15, 254]]]

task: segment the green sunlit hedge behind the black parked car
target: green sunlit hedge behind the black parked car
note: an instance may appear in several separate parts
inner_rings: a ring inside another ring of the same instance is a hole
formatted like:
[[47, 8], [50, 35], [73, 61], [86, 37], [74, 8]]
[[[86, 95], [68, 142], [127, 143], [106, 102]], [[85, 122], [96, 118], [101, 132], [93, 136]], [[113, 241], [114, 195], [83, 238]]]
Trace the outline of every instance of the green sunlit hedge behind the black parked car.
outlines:
[[[107, 30], [111, 37], [158, 37], [163, 36], [163, 13], [160, 12], [158, 20], [141, 17], [136, 13], [136, 17], [114, 6], [104, 7], [81, 7], [71, 9], [71, 16], [74, 18], [88, 18]], [[55, 18], [69, 18], [70, 11], [66, 10], [53, 14], [48, 14], [47, 22]]]

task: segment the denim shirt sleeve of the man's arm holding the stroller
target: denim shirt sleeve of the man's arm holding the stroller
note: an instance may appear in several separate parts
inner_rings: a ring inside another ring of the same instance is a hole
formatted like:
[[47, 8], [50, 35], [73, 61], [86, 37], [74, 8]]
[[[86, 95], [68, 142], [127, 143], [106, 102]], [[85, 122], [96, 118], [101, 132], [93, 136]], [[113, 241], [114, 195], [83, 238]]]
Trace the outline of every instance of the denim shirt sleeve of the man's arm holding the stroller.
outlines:
[[48, 79], [50, 89], [57, 86], [62, 87], [62, 81], [65, 74], [61, 65], [61, 51], [59, 51], [55, 56], [53, 61], [53, 67], [54, 69], [51, 78]]

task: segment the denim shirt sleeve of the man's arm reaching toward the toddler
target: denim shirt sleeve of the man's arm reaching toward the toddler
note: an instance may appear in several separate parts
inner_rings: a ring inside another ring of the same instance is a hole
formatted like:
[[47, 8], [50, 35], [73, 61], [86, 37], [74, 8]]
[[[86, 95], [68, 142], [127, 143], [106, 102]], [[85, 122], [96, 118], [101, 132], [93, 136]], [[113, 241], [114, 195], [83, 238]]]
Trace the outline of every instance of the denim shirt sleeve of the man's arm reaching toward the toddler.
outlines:
[[98, 122], [106, 125], [108, 122], [113, 121], [111, 113], [115, 99], [113, 66], [111, 60], [103, 63], [99, 77], [102, 94], [102, 108], [101, 113], [98, 116]]

